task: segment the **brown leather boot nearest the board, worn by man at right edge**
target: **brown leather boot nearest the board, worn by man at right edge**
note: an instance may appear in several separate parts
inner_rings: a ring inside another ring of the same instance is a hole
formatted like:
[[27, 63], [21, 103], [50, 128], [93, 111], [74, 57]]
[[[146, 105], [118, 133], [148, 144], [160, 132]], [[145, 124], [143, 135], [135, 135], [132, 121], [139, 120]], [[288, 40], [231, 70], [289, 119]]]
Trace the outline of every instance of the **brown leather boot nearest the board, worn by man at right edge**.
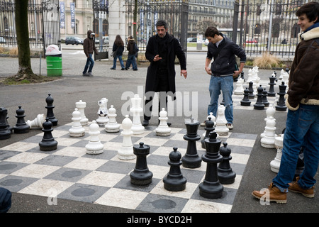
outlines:
[[268, 189], [264, 191], [254, 191], [252, 195], [262, 201], [276, 201], [277, 204], [286, 204], [287, 193], [280, 192], [279, 188], [274, 187], [274, 184], [270, 184]]

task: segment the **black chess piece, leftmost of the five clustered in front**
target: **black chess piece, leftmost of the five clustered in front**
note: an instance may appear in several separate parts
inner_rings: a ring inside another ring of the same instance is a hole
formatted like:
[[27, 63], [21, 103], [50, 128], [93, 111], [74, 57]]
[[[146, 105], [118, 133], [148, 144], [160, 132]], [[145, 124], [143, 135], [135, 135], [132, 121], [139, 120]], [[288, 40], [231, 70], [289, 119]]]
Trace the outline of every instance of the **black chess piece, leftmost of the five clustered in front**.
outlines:
[[137, 185], [147, 185], [152, 182], [153, 174], [147, 167], [147, 155], [150, 154], [150, 146], [140, 142], [133, 146], [136, 155], [136, 164], [133, 172], [130, 172], [130, 182]]

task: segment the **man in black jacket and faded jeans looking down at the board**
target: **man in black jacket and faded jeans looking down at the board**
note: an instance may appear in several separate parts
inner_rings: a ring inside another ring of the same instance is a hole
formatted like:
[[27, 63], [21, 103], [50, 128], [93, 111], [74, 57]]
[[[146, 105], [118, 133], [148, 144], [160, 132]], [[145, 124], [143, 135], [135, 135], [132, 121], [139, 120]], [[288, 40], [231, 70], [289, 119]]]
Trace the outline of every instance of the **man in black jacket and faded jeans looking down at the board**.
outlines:
[[[233, 78], [239, 76], [246, 62], [245, 50], [232, 40], [225, 38], [217, 28], [209, 26], [205, 36], [208, 39], [208, 51], [205, 62], [205, 70], [211, 75], [209, 82], [209, 94], [211, 103], [208, 105], [208, 115], [216, 116], [218, 109], [218, 97], [220, 90], [225, 101], [226, 126], [233, 129]], [[240, 69], [237, 69], [235, 55], [240, 57]], [[211, 63], [211, 60], [213, 62]], [[211, 68], [209, 65], [211, 64]]]

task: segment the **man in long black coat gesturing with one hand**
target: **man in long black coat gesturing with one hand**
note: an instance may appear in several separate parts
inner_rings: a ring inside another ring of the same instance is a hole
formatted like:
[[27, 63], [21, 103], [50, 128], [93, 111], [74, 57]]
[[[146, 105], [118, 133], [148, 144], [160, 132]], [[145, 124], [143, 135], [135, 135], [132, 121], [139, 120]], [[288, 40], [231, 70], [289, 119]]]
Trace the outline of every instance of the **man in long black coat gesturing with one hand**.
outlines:
[[[147, 43], [145, 57], [150, 61], [147, 67], [145, 82], [145, 111], [142, 126], [148, 126], [152, 114], [152, 98], [159, 92], [159, 111], [167, 111], [167, 92], [175, 93], [175, 58], [179, 59], [181, 76], [187, 77], [186, 57], [181, 49], [179, 40], [167, 33], [166, 21], [157, 21], [157, 34], [153, 35]], [[163, 97], [165, 93], [165, 97]], [[164, 99], [164, 100], [163, 100]]]

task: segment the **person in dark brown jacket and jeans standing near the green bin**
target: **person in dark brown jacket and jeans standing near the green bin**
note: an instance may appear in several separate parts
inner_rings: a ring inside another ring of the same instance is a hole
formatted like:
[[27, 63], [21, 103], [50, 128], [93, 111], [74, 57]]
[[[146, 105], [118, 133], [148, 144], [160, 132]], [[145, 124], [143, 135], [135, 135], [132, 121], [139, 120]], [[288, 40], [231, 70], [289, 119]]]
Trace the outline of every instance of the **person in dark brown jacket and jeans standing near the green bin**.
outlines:
[[83, 50], [87, 57], [85, 67], [82, 72], [82, 75], [84, 77], [93, 77], [92, 69], [94, 66], [94, 60], [92, 58], [92, 55], [93, 55], [93, 52], [95, 52], [96, 55], [99, 54], [99, 52], [96, 50], [96, 47], [95, 47], [94, 35], [95, 34], [93, 33], [93, 31], [91, 30], [87, 31], [87, 38], [83, 42]]

